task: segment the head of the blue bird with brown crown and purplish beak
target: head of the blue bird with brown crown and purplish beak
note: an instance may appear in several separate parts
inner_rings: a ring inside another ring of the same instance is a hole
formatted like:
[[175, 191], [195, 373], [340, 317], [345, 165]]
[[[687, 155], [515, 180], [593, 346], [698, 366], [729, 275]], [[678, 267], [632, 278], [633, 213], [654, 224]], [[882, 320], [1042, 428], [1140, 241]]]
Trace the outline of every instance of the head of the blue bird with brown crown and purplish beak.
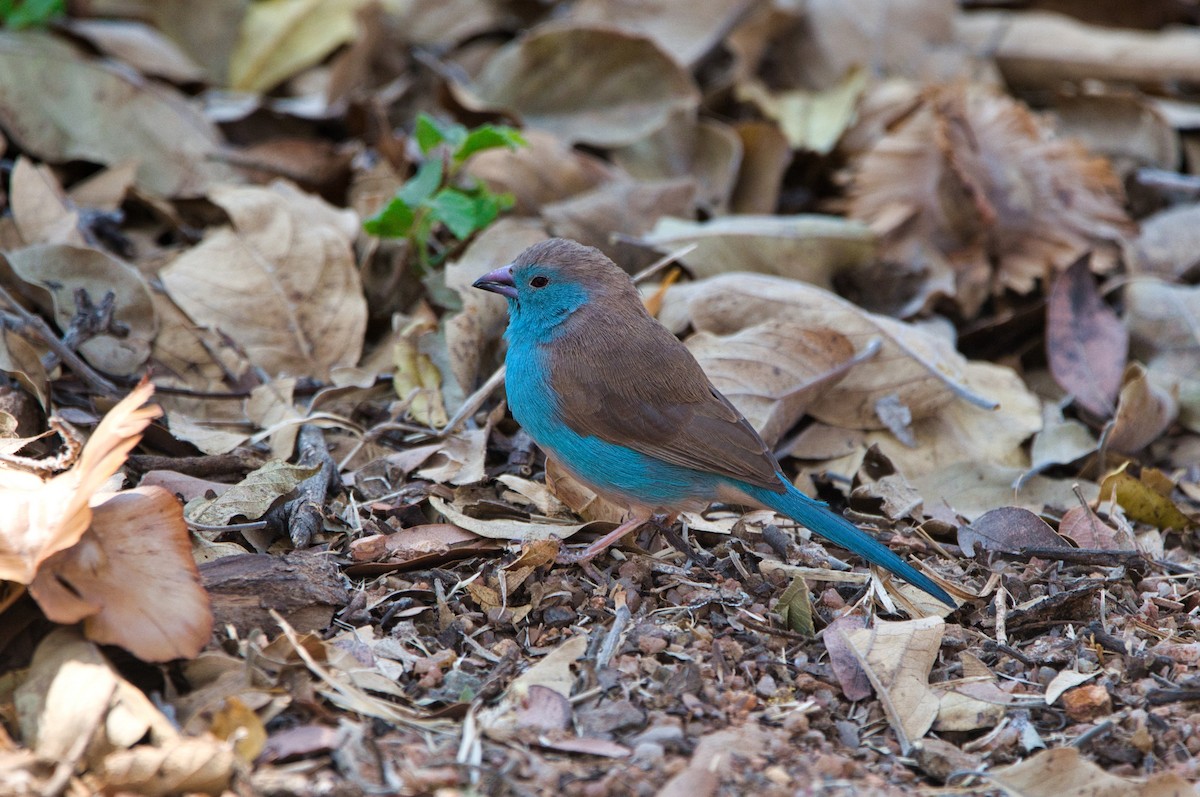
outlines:
[[511, 324], [548, 331], [587, 305], [641, 307], [637, 288], [600, 250], [552, 238], [512, 263], [475, 280], [474, 287], [509, 300]]

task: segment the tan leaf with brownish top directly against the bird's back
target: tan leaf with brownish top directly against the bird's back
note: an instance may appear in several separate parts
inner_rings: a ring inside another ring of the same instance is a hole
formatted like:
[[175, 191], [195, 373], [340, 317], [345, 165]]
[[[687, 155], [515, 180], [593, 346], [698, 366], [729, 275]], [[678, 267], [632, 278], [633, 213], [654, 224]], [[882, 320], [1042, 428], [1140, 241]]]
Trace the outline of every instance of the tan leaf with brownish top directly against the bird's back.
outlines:
[[688, 348], [768, 445], [845, 376], [854, 358], [846, 336], [782, 318], [727, 336], [697, 332]]

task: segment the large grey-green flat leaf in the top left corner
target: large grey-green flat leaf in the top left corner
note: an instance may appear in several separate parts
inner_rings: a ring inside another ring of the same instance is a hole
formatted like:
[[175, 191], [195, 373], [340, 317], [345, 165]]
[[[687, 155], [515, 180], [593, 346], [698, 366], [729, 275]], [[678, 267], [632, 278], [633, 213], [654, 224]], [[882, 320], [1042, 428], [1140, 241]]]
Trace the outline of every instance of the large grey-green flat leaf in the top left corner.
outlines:
[[216, 127], [182, 95], [50, 34], [0, 32], [0, 124], [41, 160], [137, 158], [138, 185], [168, 197], [199, 196], [233, 176], [215, 157]]

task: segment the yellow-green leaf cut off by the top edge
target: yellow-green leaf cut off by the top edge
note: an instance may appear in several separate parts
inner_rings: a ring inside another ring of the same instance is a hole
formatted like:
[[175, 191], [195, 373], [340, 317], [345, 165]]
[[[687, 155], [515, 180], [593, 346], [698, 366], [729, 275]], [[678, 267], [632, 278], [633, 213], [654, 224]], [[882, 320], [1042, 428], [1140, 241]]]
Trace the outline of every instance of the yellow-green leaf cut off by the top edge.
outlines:
[[265, 92], [314, 64], [359, 32], [355, 13], [366, 0], [265, 0], [241, 19], [229, 58], [229, 84]]

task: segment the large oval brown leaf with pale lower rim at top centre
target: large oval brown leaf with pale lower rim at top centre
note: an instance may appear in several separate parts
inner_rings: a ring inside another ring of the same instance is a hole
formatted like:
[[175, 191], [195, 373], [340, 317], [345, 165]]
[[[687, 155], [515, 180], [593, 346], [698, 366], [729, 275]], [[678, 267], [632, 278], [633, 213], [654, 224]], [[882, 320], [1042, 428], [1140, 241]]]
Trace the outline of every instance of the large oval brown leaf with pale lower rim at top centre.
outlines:
[[470, 85], [452, 89], [470, 108], [508, 110], [529, 127], [596, 146], [631, 144], [700, 103], [691, 76], [653, 41], [562, 24], [500, 48]]

